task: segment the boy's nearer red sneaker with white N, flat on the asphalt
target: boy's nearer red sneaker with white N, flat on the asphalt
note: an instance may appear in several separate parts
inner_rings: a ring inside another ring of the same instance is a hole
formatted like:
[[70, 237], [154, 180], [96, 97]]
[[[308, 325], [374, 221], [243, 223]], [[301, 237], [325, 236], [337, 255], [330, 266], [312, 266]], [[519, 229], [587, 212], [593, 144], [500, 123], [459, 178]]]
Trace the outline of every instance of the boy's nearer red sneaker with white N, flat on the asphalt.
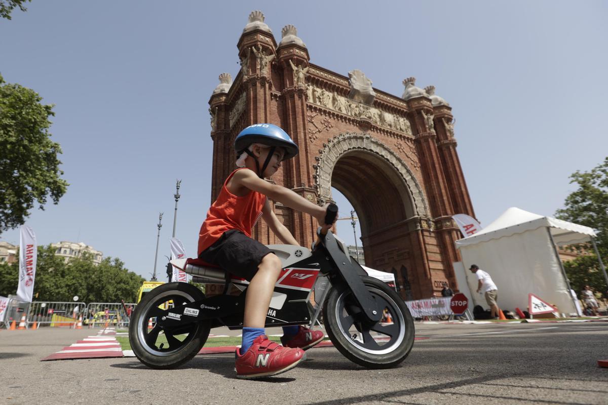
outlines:
[[260, 378], [284, 373], [306, 358], [304, 350], [290, 349], [261, 335], [241, 355], [237, 349], [237, 378]]

